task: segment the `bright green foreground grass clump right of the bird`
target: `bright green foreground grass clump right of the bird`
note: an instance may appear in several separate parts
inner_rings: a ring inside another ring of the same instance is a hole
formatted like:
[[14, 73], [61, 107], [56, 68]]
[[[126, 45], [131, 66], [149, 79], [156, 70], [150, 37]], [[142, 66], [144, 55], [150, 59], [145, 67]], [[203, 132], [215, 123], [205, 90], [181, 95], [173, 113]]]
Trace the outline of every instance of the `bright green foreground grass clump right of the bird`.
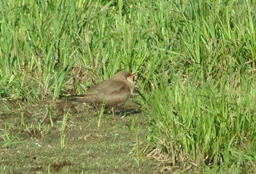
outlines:
[[[199, 88], [179, 78], [172, 86], [162, 83], [150, 97], [153, 128], [148, 138], [164, 142], [159, 147], [173, 165], [236, 163], [233, 150], [242, 152], [255, 141], [255, 82], [246, 81], [223, 77], [220, 84], [207, 82]], [[255, 157], [249, 153], [243, 159], [252, 162]]]

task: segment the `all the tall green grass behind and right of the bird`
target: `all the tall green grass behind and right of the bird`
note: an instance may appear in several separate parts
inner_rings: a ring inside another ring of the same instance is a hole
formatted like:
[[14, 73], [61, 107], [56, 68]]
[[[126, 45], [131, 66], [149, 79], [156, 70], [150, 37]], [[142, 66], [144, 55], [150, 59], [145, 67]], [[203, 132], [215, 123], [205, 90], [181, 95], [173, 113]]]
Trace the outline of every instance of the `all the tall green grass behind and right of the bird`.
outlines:
[[55, 100], [129, 70], [173, 165], [255, 166], [255, 6], [1, 1], [0, 95]]

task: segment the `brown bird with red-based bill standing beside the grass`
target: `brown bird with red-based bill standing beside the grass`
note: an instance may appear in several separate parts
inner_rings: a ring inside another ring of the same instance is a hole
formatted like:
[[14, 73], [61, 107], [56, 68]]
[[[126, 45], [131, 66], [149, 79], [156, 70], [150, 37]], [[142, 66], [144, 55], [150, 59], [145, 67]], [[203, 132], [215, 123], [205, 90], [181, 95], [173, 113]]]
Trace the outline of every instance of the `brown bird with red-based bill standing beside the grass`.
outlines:
[[124, 104], [134, 91], [133, 77], [130, 72], [122, 70], [110, 79], [96, 84], [83, 95], [67, 96], [67, 100], [94, 104], [95, 106], [105, 104], [107, 107], [112, 107], [112, 113], [115, 116], [114, 107]]

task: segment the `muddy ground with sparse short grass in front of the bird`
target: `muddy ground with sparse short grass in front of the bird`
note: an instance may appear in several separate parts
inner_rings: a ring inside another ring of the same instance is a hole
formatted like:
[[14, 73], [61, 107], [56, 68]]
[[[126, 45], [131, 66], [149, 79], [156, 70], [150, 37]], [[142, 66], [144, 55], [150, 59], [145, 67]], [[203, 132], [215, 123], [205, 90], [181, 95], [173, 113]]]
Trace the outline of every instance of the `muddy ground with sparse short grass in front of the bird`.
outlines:
[[1, 102], [0, 132], [3, 173], [162, 173], [164, 168], [141, 154], [138, 161], [138, 146], [141, 150], [147, 138], [147, 116], [140, 111], [100, 117], [84, 104]]

